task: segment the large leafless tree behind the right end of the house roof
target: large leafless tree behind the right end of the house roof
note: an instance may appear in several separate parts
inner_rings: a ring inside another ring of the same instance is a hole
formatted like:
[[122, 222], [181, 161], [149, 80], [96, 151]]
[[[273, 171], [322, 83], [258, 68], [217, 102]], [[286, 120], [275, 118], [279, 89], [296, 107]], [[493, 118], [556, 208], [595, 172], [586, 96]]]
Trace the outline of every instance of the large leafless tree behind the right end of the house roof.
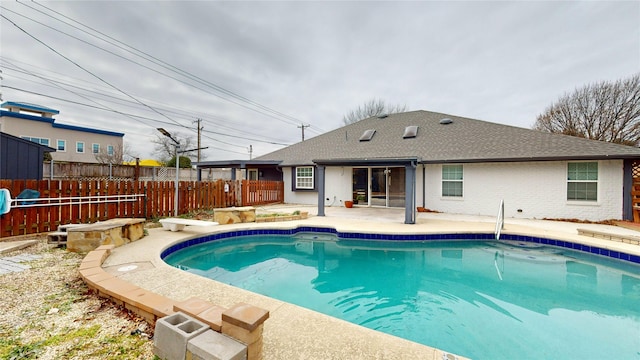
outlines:
[[640, 145], [640, 73], [589, 84], [565, 94], [538, 115], [536, 130]]

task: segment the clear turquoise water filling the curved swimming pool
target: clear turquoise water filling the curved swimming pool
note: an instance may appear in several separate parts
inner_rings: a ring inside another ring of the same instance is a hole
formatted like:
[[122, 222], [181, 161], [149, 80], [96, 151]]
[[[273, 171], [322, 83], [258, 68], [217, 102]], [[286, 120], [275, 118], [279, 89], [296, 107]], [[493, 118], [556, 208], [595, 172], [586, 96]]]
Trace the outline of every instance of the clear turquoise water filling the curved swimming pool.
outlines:
[[201, 241], [168, 249], [163, 258], [473, 359], [640, 359], [637, 257], [620, 261], [567, 249], [569, 243], [530, 240], [368, 241], [297, 233], [195, 244]]

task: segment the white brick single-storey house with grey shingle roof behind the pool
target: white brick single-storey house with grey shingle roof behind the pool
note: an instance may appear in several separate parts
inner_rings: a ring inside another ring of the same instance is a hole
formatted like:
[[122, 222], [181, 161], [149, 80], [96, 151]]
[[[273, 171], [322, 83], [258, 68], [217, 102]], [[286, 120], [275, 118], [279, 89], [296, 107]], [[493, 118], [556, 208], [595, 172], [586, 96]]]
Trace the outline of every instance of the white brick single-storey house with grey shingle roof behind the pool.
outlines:
[[495, 216], [504, 200], [506, 217], [599, 221], [632, 219], [640, 149], [412, 111], [365, 119], [254, 161], [277, 163], [285, 202], [317, 204], [319, 215], [355, 200], [405, 208], [405, 223], [414, 223], [416, 207]]

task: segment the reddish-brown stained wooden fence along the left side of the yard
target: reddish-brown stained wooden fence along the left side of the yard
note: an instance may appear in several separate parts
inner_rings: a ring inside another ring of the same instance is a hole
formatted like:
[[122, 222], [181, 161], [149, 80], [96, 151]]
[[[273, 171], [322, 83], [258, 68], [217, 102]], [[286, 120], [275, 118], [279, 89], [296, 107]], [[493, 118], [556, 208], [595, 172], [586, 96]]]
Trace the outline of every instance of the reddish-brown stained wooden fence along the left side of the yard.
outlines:
[[[178, 183], [178, 214], [231, 206], [252, 206], [284, 201], [280, 181], [217, 180]], [[0, 215], [0, 238], [55, 231], [58, 225], [93, 223], [112, 218], [173, 216], [172, 181], [107, 180], [0, 180], [13, 199], [37, 190], [37, 205], [12, 208]], [[127, 196], [124, 196], [127, 195]], [[135, 195], [135, 196], [134, 196]], [[55, 198], [64, 198], [58, 201]], [[19, 201], [14, 203], [20, 205]]]

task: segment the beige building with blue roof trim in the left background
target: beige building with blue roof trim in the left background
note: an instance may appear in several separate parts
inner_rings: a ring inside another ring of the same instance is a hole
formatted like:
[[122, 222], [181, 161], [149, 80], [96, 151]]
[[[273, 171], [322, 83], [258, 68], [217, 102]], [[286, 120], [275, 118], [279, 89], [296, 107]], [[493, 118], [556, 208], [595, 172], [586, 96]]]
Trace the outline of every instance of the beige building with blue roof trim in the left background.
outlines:
[[6, 109], [0, 110], [0, 131], [56, 149], [55, 161], [95, 163], [97, 154], [123, 147], [123, 133], [58, 123], [58, 110], [12, 101], [0, 106]]

